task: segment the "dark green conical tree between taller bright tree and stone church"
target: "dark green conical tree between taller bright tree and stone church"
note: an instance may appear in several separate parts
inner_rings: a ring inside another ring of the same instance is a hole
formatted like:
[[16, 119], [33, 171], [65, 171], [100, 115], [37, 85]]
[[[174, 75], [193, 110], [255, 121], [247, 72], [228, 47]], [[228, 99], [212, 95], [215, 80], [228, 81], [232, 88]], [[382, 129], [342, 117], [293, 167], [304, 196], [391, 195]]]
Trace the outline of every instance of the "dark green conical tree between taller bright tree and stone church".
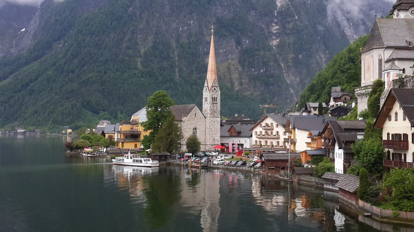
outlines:
[[175, 123], [175, 117], [171, 115], [155, 135], [152, 150], [154, 152], [178, 152], [181, 149], [181, 129]]

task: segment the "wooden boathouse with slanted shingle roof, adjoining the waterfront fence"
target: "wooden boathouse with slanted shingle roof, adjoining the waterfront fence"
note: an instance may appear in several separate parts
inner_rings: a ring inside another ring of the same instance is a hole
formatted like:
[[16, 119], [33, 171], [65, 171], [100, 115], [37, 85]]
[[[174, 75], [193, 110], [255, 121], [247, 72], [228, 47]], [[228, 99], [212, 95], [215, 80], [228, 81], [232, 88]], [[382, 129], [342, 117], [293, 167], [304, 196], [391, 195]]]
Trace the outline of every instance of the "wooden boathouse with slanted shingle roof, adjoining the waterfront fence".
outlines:
[[339, 201], [358, 204], [358, 195], [356, 189], [359, 187], [359, 177], [356, 175], [345, 174], [344, 177], [335, 185], [339, 190]]

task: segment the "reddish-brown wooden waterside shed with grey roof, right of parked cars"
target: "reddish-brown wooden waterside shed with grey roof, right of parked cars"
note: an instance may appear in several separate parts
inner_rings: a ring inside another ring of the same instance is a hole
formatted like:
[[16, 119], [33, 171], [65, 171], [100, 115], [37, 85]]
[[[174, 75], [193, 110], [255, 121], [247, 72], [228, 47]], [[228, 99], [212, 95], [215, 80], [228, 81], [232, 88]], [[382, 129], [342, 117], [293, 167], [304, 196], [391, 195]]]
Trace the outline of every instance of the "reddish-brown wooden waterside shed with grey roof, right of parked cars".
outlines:
[[[290, 158], [301, 157], [300, 153], [290, 153]], [[287, 152], [277, 153], [263, 153], [260, 156], [262, 173], [280, 174], [281, 171], [287, 171], [289, 163], [289, 154]], [[290, 170], [293, 171], [293, 165], [290, 166]]]

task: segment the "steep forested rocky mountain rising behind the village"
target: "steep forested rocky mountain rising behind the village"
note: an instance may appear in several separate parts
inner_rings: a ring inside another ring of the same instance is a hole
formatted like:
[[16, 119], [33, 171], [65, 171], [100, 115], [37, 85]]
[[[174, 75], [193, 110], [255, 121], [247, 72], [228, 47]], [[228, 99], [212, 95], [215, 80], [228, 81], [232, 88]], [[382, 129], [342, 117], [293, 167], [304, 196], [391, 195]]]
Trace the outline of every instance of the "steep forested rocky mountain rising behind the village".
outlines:
[[201, 105], [210, 25], [222, 115], [258, 119], [259, 104], [280, 110], [297, 101], [333, 55], [368, 33], [374, 12], [386, 15], [392, 3], [45, 0], [25, 12], [7, 2], [0, 11], [15, 13], [0, 21], [21, 21], [0, 34], [0, 127], [119, 120], [160, 89], [177, 104]]

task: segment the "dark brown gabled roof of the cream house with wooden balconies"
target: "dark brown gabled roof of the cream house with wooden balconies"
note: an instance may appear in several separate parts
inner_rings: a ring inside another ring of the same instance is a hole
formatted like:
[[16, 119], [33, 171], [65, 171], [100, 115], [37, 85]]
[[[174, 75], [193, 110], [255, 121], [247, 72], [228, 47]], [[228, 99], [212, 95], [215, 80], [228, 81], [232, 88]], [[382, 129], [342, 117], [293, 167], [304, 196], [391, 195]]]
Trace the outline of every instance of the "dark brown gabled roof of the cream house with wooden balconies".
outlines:
[[414, 125], [414, 89], [396, 89], [392, 88], [385, 98], [383, 107], [381, 107], [377, 120], [374, 122], [375, 128], [383, 128], [385, 120], [387, 120], [395, 101], [397, 101], [402, 111], [407, 116], [411, 126]]

